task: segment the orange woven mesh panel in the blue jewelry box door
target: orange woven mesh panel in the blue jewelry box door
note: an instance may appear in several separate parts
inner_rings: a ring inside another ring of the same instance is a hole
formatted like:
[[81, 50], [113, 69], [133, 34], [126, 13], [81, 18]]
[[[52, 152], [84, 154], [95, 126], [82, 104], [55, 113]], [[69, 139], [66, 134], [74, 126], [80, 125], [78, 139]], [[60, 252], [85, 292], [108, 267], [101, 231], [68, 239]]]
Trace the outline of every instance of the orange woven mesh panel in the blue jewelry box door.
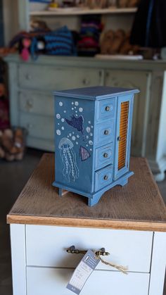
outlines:
[[129, 101], [125, 101], [121, 103], [121, 109], [120, 109], [120, 141], [119, 141], [119, 149], [118, 149], [118, 170], [125, 167], [128, 117], [129, 117]]

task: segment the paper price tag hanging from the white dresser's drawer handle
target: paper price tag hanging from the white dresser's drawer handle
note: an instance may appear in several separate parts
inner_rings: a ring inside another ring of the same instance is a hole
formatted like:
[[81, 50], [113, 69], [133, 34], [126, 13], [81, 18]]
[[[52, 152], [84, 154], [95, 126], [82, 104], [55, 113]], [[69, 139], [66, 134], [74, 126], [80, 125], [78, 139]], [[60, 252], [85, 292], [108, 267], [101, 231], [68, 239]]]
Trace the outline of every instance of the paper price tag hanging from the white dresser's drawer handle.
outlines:
[[99, 262], [100, 259], [96, 257], [96, 254], [93, 251], [88, 250], [79, 262], [79, 265], [77, 265], [77, 268], [75, 268], [75, 272], [73, 273], [70, 282], [68, 282], [67, 288], [73, 293], [79, 294]]

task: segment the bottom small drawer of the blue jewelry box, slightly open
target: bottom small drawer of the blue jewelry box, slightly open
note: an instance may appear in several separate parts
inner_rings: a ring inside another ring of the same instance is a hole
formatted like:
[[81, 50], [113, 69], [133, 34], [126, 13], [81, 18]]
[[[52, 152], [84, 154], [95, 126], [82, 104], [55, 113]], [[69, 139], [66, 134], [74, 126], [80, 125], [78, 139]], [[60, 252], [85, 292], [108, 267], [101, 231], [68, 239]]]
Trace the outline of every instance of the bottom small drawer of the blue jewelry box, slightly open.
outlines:
[[113, 181], [113, 165], [110, 165], [106, 168], [95, 172], [95, 184], [94, 184], [94, 191], [97, 192], [99, 189], [103, 189], [106, 187], [110, 182]]

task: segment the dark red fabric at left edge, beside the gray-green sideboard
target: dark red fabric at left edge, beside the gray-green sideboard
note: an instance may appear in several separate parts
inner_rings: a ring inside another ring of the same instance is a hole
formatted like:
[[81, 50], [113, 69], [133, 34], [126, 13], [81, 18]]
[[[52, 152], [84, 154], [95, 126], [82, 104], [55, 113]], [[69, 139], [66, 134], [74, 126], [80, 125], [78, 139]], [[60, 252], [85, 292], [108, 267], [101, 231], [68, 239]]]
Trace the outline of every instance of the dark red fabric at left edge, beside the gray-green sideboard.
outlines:
[[0, 130], [10, 127], [8, 99], [0, 99]]

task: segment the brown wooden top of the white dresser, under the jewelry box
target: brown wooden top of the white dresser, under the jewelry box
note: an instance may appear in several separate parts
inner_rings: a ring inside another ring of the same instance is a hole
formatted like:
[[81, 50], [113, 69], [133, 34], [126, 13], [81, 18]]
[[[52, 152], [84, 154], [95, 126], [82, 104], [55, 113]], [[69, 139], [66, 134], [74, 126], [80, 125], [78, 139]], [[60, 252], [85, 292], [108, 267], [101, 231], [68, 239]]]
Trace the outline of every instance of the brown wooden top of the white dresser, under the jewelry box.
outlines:
[[54, 156], [45, 153], [7, 216], [8, 223], [166, 232], [166, 208], [145, 158], [131, 158], [134, 176], [103, 194], [94, 207], [52, 187]]

